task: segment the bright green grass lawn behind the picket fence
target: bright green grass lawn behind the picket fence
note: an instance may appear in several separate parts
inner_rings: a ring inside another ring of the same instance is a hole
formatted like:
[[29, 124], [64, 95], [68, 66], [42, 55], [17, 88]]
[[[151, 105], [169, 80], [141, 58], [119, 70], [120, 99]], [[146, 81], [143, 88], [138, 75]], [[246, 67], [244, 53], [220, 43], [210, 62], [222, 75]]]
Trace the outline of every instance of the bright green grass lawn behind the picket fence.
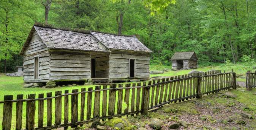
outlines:
[[[210, 69], [215, 69], [215, 70], [221, 70], [223, 72], [223, 69], [226, 70], [226, 72], [230, 72], [231, 68], [234, 69], [234, 72], [239, 73], [239, 74], [245, 74], [245, 69], [247, 70], [251, 70], [249, 68], [243, 68], [242, 70], [239, 70], [233, 66], [217, 66], [217, 67], [200, 67], [196, 70], [199, 71], [207, 71]], [[153, 76], [177, 76], [177, 75], [182, 75], [182, 74], [187, 74], [188, 72], [190, 72], [191, 70], [178, 70], [178, 71], [169, 71], [167, 73], [164, 74], [155, 74], [155, 75], [150, 75], [150, 77]], [[245, 81], [245, 79], [237, 79], [237, 81]], [[48, 92], [53, 92], [53, 96], [54, 96], [54, 91], [62, 91], [62, 93], [64, 93], [65, 90], [69, 90], [69, 92], [71, 93], [71, 90], [73, 89], [79, 89], [79, 91], [81, 91], [81, 88], [88, 88], [88, 87], [94, 87], [95, 85], [81, 85], [81, 86], [75, 86], [75, 87], [59, 87], [59, 88], [23, 88], [23, 77], [8, 77], [5, 76], [4, 74], [0, 74], [0, 100], [3, 100], [3, 96], [4, 95], [14, 95], [14, 99], [16, 99], [16, 95], [17, 94], [24, 94], [24, 98], [25, 95], [27, 94], [36, 94], [36, 98], [38, 97], [38, 94], [40, 93], [44, 93], [44, 96], [46, 97], [46, 93]], [[141, 91], [142, 92], [142, 91]], [[101, 99], [102, 99], [102, 95], [103, 92], [101, 91]], [[107, 94], [108, 95], [108, 94]], [[130, 95], [131, 95], [131, 90], [130, 90]], [[118, 96], [118, 93], [117, 93]], [[123, 91], [123, 97], [125, 96], [125, 91]], [[85, 95], [85, 97], [87, 97], [87, 94]], [[79, 94], [79, 98], [80, 99], [80, 94]], [[71, 97], [69, 98], [69, 103], [71, 102]], [[87, 101], [87, 99], [85, 99], [85, 101]], [[92, 101], [94, 101], [94, 93], [93, 93], [93, 99]], [[117, 100], [116, 100], [117, 101]], [[64, 98], [62, 98], [62, 108], [64, 108]], [[131, 96], [130, 96], [130, 102], [131, 102]], [[136, 102], [136, 101], [135, 101]], [[54, 113], [54, 105], [55, 102], [54, 100], [52, 100], [52, 105], [53, 105], [53, 113]], [[85, 102], [86, 104], [86, 102]], [[108, 104], [108, 102], [107, 102]], [[38, 102], [36, 102], [36, 107], [38, 105]], [[46, 101], [44, 101], [44, 126], [46, 126]], [[71, 103], [69, 104], [71, 106]], [[78, 102], [78, 108], [80, 110], [80, 105], [81, 102], [79, 100]], [[13, 116], [12, 116], [12, 128], [15, 127], [15, 118], [16, 118], [16, 103], [13, 103]], [[26, 103], [23, 103], [23, 110], [25, 111], [25, 106]], [[116, 102], [116, 106], [117, 106], [117, 102]], [[92, 102], [92, 107], [93, 107], [93, 102]], [[122, 110], [124, 110], [127, 107], [127, 105], [123, 102], [123, 106], [122, 106]], [[0, 108], [3, 108], [3, 104], [0, 104]], [[86, 105], [85, 105], [86, 108]], [[102, 104], [100, 104], [100, 110], [102, 109]], [[92, 108], [93, 111], [93, 108]], [[2, 119], [2, 113], [3, 113], [3, 109], [0, 109], [0, 118]], [[25, 112], [23, 112], [22, 115], [22, 119], [23, 119], [23, 126], [22, 128], [25, 127]], [[86, 113], [86, 109], [85, 109], [85, 113]], [[115, 111], [115, 113], [117, 113], [117, 110]], [[64, 111], [62, 110], [62, 118], [64, 117]], [[86, 115], [86, 114], [85, 114]], [[71, 110], [69, 109], [69, 118], [71, 120]], [[78, 115], [78, 119], [80, 119], [80, 111], [79, 111], [79, 115]], [[38, 120], [38, 111], [36, 109], [36, 115], [35, 115], [35, 122], [37, 123]], [[63, 119], [62, 119], [63, 121]], [[54, 114], [52, 115], [52, 124], [54, 124]], [[37, 124], [35, 125], [37, 126]], [[0, 122], [0, 129], [2, 129], [2, 122]]]

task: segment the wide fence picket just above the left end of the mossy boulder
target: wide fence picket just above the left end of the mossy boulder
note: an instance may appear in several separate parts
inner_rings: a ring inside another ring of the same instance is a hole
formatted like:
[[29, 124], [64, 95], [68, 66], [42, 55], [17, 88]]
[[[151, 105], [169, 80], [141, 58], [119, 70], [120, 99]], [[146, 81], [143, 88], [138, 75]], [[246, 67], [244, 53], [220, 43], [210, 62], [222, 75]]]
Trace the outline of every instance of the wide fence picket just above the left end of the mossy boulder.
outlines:
[[[116, 84], [110, 85], [110, 88], [116, 88], [116, 87], [117, 87]], [[116, 95], [116, 90], [109, 91], [109, 109], [108, 109], [109, 116], [115, 114], [115, 95]]]

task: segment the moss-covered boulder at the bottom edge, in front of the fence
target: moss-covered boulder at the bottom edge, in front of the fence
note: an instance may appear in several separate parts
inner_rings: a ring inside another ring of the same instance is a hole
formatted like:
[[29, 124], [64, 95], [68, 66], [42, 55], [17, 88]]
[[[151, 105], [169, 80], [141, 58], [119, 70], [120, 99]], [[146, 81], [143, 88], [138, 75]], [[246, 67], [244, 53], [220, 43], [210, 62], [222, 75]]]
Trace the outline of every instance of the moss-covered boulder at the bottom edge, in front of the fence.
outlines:
[[110, 119], [108, 121], [106, 121], [106, 125], [109, 127], [117, 127], [121, 130], [128, 130], [131, 128], [130, 122], [128, 122], [126, 119], [124, 118], [113, 118]]

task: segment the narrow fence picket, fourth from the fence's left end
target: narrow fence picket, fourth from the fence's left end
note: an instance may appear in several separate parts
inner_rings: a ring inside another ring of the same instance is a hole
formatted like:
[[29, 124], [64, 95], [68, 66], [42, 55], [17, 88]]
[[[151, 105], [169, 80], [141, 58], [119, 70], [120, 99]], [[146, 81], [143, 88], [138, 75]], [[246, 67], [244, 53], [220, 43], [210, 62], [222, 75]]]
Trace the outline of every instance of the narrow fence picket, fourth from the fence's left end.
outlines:
[[[38, 98], [44, 98], [44, 94], [38, 94]], [[38, 101], [38, 127], [43, 127], [44, 122], [44, 101]]]

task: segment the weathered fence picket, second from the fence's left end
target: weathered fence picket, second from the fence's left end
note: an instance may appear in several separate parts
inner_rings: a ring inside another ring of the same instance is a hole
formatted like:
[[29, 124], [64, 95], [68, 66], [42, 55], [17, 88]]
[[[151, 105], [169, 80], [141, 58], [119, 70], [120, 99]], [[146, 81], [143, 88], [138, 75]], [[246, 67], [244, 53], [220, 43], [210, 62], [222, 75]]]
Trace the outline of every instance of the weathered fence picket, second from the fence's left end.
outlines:
[[[23, 94], [17, 95], [17, 99], [23, 99]], [[22, 107], [23, 102], [16, 103], [16, 130], [21, 130], [22, 128]]]

